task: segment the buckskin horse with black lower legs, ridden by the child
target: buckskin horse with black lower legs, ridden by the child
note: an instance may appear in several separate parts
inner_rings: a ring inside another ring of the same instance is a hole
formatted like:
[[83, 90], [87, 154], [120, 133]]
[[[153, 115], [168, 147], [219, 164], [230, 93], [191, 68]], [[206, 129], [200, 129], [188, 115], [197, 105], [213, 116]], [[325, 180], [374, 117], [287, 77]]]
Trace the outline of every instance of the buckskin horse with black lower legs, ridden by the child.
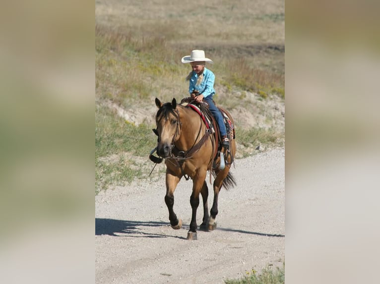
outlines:
[[[190, 230], [187, 239], [197, 239], [196, 211], [199, 206], [199, 193], [203, 200], [203, 219], [200, 230], [213, 231], [216, 229], [216, 215], [218, 214], [218, 195], [224, 186], [226, 189], [236, 185], [230, 172], [236, 153], [235, 130], [230, 130], [230, 146], [228, 149], [215, 145], [215, 137], [211, 128], [202, 117], [189, 106], [177, 104], [175, 98], [171, 102], [162, 103], [155, 99], [158, 111], [156, 113], [156, 129], [153, 132], [158, 136], [156, 152], [159, 158], [154, 157], [156, 163], [165, 159], [166, 164], [166, 195], [165, 203], [169, 211], [170, 225], [173, 229], [182, 228], [182, 220], [177, 218], [173, 210], [174, 191], [182, 177], [192, 180], [190, 205], [192, 209]], [[221, 109], [221, 108], [219, 108]], [[233, 123], [231, 115], [223, 110]], [[232, 124], [233, 125], [233, 124]], [[217, 130], [215, 131], [217, 133]], [[233, 134], [233, 135], [232, 135]], [[152, 150], [152, 153], [154, 150]], [[216, 151], [218, 150], [218, 151]], [[218, 155], [217, 153], [220, 153]], [[225, 161], [224, 161], [225, 159]], [[224, 164], [225, 166], [220, 166]], [[219, 167], [218, 167], [219, 165]], [[224, 167], [224, 168], [223, 168]], [[206, 183], [207, 171], [214, 177], [214, 199], [208, 214]]]

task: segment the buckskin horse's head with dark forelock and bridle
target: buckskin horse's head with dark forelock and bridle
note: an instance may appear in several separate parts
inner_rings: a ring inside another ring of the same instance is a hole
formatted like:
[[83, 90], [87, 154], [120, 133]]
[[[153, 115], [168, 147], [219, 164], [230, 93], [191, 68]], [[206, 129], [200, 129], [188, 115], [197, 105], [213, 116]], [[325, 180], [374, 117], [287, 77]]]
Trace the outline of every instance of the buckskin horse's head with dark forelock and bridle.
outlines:
[[157, 154], [161, 157], [171, 155], [174, 142], [180, 137], [180, 114], [177, 109], [177, 101], [173, 98], [172, 102], [162, 103], [156, 98], [158, 111], [156, 114], [157, 129], [153, 132], [158, 136]]

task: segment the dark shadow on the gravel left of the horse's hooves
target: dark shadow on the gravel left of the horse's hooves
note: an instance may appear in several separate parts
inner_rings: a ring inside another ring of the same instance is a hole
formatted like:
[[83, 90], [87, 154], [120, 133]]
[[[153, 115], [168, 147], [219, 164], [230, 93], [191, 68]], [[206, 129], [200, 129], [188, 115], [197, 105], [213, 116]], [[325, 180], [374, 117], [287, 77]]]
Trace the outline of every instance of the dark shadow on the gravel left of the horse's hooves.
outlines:
[[[141, 228], [137, 227], [162, 227], [169, 226], [165, 222], [142, 222], [142, 221], [127, 221], [127, 220], [115, 220], [115, 219], [103, 219], [95, 218], [95, 235], [109, 235], [115, 237], [121, 237], [125, 235], [115, 235], [115, 234], [137, 234], [138, 236], [127, 236], [127, 237], [176, 237], [167, 236], [161, 234], [150, 234], [143, 231]], [[184, 237], [176, 237], [184, 238]]]

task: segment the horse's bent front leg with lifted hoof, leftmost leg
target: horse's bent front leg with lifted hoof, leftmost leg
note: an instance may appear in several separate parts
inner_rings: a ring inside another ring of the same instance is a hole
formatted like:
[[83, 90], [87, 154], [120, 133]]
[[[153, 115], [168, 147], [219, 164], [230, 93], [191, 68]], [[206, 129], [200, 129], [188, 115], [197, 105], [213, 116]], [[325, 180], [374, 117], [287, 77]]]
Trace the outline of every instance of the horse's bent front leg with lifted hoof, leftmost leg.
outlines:
[[165, 203], [169, 210], [169, 220], [170, 225], [173, 229], [181, 229], [182, 220], [177, 218], [176, 213], [174, 213], [174, 190], [178, 183], [180, 182], [181, 177], [174, 175], [170, 170], [166, 171], [166, 195], [165, 195]]

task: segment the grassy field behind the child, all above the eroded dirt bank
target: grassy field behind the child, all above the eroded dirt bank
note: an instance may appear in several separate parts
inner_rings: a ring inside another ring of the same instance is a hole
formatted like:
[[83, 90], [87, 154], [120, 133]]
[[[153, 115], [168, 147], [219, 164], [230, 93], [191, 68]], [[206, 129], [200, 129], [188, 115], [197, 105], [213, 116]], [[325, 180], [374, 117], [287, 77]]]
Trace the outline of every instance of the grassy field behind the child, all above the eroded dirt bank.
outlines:
[[216, 87], [284, 93], [282, 0], [97, 0], [95, 16], [97, 95], [118, 104], [182, 98], [180, 59], [195, 48], [214, 60]]

